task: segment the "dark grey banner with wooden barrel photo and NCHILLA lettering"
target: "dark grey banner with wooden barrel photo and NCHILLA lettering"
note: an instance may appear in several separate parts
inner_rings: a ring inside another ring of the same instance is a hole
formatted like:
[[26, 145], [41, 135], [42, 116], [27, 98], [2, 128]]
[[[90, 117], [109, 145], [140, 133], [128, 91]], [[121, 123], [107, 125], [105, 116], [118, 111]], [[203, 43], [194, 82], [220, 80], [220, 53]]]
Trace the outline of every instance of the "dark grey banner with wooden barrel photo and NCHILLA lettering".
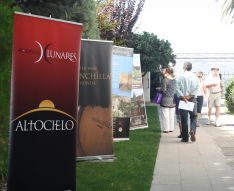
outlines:
[[77, 159], [112, 159], [113, 42], [82, 40], [81, 47]]

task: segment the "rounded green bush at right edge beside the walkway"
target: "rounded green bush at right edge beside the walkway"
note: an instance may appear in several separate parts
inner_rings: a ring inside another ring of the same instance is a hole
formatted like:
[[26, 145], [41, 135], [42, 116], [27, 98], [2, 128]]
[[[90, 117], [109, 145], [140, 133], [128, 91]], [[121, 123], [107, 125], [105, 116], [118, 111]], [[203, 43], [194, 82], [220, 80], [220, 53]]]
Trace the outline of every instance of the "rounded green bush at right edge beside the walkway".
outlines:
[[226, 88], [225, 100], [228, 110], [234, 113], [234, 79], [232, 79]]

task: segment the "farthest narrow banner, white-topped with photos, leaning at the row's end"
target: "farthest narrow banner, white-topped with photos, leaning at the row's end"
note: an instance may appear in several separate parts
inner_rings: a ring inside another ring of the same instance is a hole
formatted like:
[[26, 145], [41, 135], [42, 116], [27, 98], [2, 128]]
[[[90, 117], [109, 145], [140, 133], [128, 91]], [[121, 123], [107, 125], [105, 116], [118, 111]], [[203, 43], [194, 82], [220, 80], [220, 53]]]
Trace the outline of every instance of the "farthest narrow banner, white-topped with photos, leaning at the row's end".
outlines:
[[148, 127], [141, 75], [140, 54], [134, 54], [132, 72], [132, 111], [130, 119], [131, 130]]

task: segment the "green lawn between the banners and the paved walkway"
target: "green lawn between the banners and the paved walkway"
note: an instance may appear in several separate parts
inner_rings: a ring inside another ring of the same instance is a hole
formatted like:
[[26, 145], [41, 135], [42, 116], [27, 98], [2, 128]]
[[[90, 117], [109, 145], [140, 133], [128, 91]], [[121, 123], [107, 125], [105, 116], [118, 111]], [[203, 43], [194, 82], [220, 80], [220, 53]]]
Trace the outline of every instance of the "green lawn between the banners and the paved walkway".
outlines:
[[130, 132], [114, 143], [114, 162], [77, 163], [77, 191], [149, 191], [160, 140], [155, 106], [147, 106], [149, 128]]

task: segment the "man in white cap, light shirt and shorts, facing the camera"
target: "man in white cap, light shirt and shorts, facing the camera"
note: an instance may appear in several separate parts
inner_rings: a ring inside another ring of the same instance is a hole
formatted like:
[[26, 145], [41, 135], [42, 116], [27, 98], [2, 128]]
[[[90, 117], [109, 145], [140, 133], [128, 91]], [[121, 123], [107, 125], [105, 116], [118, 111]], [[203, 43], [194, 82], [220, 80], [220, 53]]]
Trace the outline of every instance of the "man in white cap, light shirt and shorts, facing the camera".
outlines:
[[208, 89], [208, 122], [207, 125], [211, 124], [211, 111], [215, 107], [215, 125], [219, 127], [220, 124], [220, 107], [221, 107], [221, 96], [222, 96], [222, 86], [221, 79], [219, 75], [219, 68], [217, 66], [211, 67], [210, 74], [205, 79], [205, 85]]

